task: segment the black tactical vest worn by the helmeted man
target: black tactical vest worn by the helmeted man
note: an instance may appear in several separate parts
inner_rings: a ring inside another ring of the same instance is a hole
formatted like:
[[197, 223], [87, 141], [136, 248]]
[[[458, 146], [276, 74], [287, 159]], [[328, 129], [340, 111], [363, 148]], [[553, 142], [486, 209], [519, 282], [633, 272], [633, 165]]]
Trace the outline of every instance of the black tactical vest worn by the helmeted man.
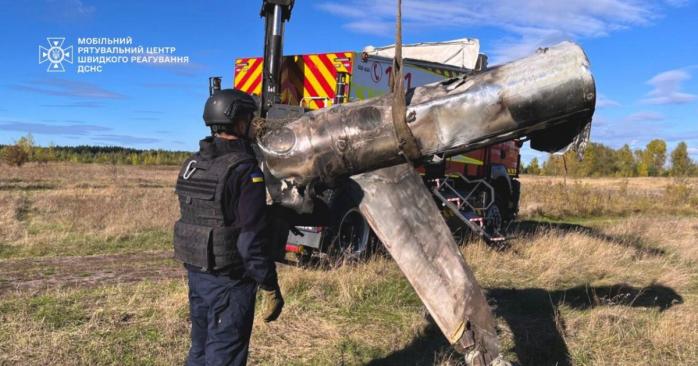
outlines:
[[228, 152], [213, 159], [196, 153], [184, 162], [175, 189], [182, 214], [174, 228], [176, 259], [203, 271], [242, 267], [240, 228], [225, 217], [223, 191], [233, 169], [250, 161], [255, 159], [248, 153]]

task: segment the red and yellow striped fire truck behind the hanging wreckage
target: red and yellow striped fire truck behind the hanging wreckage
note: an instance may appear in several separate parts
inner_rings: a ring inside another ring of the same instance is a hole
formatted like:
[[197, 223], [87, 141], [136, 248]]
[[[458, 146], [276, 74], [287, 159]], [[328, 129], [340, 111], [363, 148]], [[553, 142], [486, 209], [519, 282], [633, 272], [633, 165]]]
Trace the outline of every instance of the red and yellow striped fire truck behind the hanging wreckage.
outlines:
[[[387, 93], [391, 52], [388, 46], [285, 56], [280, 70], [281, 103], [316, 110]], [[403, 56], [407, 90], [477, 72], [487, 63], [473, 39], [405, 45]], [[234, 87], [260, 96], [263, 64], [262, 57], [237, 59]], [[467, 232], [489, 242], [504, 240], [505, 225], [518, 212], [519, 147], [518, 141], [505, 142], [419, 168], [457, 240]], [[286, 250], [304, 255], [332, 250], [350, 256], [369, 253], [377, 239], [355, 207], [348, 204], [338, 209], [335, 224], [296, 228], [289, 234]]]

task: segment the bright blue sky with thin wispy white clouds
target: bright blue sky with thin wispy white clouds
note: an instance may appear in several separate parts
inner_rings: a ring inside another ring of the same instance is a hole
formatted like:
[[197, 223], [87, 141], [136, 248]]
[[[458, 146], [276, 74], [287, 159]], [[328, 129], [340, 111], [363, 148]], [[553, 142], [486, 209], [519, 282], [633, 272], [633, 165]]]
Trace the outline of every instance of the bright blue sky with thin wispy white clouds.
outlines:
[[[698, 159], [696, 0], [404, 1], [405, 42], [480, 39], [490, 63], [562, 40], [592, 62], [599, 98], [596, 142], [642, 147], [686, 141]], [[0, 0], [0, 143], [31, 132], [42, 145], [194, 150], [207, 78], [230, 85], [237, 57], [261, 55], [261, 1]], [[297, 0], [285, 53], [361, 50], [392, 43], [392, 1]], [[188, 64], [107, 64], [99, 73], [47, 72], [39, 46], [65, 37], [132, 37], [175, 47]], [[524, 160], [535, 153], [526, 150]], [[543, 155], [541, 155], [543, 156]]]

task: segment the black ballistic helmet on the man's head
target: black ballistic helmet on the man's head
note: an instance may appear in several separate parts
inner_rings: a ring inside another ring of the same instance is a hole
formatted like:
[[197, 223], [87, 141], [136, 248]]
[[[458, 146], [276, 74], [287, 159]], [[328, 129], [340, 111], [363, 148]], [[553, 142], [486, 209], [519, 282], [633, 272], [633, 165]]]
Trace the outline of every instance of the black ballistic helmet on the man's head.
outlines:
[[247, 93], [238, 89], [223, 89], [213, 93], [204, 107], [206, 126], [233, 127], [237, 117], [257, 110], [257, 103]]

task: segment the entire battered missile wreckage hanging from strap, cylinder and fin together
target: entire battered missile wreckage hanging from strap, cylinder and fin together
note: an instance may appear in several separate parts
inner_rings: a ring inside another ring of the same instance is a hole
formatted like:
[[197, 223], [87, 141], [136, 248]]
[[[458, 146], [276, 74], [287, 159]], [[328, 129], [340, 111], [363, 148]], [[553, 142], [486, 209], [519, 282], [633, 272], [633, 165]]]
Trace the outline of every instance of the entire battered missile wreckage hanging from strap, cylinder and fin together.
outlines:
[[515, 138], [581, 154], [596, 101], [589, 61], [564, 42], [408, 90], [402, 105], [401, 98], [396, 89], [292, 118], [268, 116], [258, 153], [271, 201], [312, 214], [322, 190], [357, 184], [361, 213], [449, 342], [469, 364], [503, 362], [483, 291], [415, 166]]

